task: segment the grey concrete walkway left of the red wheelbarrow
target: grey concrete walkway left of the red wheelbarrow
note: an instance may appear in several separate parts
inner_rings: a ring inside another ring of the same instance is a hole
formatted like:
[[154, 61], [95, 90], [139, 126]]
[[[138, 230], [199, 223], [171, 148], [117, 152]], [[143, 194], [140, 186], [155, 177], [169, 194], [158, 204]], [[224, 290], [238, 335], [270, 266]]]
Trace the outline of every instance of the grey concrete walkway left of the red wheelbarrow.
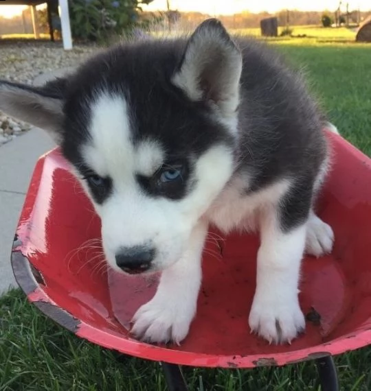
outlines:
[[0, 147], [0, 295], [16, 285], [10, 251], [32, 171], [38, 157], [54, 146], [43, 130], [34, 128]]

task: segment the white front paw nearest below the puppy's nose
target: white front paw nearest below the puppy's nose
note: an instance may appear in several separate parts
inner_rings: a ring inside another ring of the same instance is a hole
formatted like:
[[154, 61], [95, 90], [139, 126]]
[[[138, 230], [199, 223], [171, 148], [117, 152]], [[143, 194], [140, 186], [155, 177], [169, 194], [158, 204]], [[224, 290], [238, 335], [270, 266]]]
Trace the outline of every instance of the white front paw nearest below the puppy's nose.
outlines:
[[180, 342], [187, 336], [196, 313], [196, 303], [177, 303], [175, 298], [157, 296], [133, 316], [131, 334], [149, 343]]

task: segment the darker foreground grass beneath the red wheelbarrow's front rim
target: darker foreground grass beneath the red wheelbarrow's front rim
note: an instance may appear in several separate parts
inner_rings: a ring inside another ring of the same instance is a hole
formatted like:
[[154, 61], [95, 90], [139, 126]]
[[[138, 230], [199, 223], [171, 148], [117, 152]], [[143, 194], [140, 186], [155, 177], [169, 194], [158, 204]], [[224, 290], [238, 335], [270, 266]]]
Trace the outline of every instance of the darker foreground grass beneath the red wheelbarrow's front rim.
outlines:
[[[155, 362], [121, 357], [81, 340], [26, 302], [19, 290], [0, 298], [1, 391], [166, 390]], [[341, 390], [371, 389], [371, 349], [335, 357]], [[284, 368], [184, 368], [190, 390], [305, 391], [315, 385], [313, 362]], [[202, 380], [201, 380], [202, 377]]]

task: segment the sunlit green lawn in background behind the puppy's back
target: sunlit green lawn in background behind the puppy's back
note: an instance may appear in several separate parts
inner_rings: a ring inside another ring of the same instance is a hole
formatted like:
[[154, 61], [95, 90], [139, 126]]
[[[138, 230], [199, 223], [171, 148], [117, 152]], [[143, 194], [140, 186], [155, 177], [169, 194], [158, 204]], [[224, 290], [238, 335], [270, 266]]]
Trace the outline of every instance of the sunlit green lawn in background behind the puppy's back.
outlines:
[[341, 134], [371, 156], [371, 45], [305, 40], [272, 45], [304, 67], [313, 93]]

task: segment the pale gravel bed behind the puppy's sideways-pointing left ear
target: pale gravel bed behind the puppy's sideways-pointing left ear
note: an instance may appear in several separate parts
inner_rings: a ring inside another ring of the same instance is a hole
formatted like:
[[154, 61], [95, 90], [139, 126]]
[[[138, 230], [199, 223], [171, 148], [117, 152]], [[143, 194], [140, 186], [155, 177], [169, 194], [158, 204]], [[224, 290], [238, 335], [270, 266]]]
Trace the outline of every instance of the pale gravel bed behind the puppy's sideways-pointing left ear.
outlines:
[[[75, 67], [97, 49], [95, 45], [77, 45], [65, 51], [61, 43], [0, 40], [0, 79], [32, 84], [41, 73]], [[0, 112], [0, 147], [30, 128]]]

